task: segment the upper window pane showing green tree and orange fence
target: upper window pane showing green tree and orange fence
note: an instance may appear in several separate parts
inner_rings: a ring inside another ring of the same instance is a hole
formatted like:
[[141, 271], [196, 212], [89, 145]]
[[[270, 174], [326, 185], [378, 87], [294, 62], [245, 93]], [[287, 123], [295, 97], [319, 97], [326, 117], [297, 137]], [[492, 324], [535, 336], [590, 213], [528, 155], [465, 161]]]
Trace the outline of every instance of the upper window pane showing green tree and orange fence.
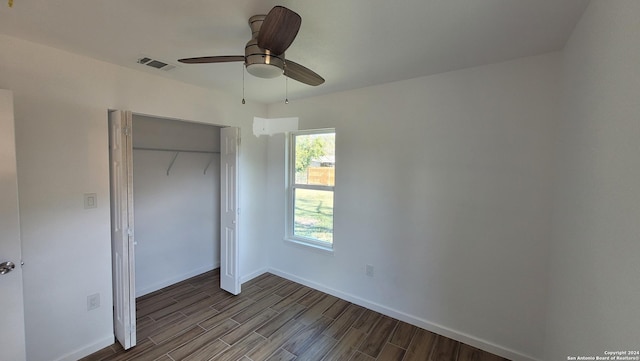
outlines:
[[335, 185], [336, 133], [295, 136], [296, 184]]

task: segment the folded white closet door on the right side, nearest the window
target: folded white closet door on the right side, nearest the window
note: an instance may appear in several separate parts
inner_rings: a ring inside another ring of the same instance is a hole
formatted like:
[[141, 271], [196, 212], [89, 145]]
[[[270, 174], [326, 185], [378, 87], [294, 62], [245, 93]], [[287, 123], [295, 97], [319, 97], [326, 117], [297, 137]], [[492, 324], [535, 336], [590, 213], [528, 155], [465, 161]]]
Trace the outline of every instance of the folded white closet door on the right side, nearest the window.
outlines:
[[220, 129], [220, 288], [240, 293], [238, 250], [239, 128]]

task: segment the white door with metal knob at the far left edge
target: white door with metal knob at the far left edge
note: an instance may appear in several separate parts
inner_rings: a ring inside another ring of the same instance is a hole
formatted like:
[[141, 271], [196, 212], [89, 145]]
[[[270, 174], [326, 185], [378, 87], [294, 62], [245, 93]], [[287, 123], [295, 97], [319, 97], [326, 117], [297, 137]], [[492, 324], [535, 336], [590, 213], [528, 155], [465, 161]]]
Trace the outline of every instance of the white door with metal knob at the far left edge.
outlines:
[[[0, 359], [25, 360], [13, 95], [0, 89]], [[9, 263], [10, 262], [10, 263]]]

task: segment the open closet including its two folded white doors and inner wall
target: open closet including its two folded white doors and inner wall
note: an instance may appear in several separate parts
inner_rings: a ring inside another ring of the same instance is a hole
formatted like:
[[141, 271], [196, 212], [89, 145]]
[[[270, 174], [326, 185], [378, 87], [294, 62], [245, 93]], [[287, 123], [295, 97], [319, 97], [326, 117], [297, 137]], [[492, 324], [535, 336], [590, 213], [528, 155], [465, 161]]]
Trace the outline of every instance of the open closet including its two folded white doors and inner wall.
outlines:
[[125, 349], [144, 295], [216, 268], [221, 288], [240, 292], [238, 145], [234, 127], [109, 113], [114, 331]]

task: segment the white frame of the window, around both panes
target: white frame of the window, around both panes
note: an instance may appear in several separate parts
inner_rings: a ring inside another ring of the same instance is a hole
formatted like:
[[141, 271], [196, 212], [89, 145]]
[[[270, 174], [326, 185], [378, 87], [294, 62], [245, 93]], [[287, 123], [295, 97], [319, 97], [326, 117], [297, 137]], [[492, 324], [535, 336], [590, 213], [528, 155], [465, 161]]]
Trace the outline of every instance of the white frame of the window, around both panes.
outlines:
[[[286, 210], [286, 221], [285, 221], [285, 240], [309, 246], [315, 249], [333, 252], [333, 244], [335, 243], [335, 182], [333, 186], [324, 186], [324, 185], [309, 185], [309, 184], [296, 184], [296, 165], [295, 165], [295, 137], [298, 135], [310, 135], [310, 134], [324, 134], [324, 133], [336, 133], [335, 128], [324, 128], [324, 129], [309, 129], [309, 130], [298, 130], [295, 132], [289, 132], [287, 135], [287, 145], [286, 145], [286, 163], [287, 163], [287, 171], [286, 171], [286, 187], [287, 187], [287, 210]], [[312, 189], [312, 190], [321, 190], [321, 191], [331, 191], [334, 199], [334, 228], [331, 229], [334, 237], [333, 242], [326, 242], [315, 238], [309, 237], [301, 237], [296, 236], [294, 234], [294, 206], [295, 206], [295, 190], [296, 189]]]

